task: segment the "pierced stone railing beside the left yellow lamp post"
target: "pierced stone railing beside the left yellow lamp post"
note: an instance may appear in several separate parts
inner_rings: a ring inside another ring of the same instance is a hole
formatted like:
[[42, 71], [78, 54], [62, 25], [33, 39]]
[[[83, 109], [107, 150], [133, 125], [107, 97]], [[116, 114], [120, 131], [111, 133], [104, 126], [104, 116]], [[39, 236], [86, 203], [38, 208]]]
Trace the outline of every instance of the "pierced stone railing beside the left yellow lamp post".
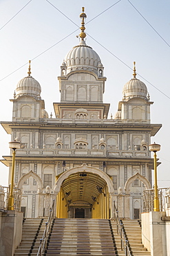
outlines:
[[[7, 212], [8, 210], [8, 198], [10, 187], [3, 187], [0, 185], [0, 211]], [[21, 211], [21, 190], [14, 188], [14, 210]]]

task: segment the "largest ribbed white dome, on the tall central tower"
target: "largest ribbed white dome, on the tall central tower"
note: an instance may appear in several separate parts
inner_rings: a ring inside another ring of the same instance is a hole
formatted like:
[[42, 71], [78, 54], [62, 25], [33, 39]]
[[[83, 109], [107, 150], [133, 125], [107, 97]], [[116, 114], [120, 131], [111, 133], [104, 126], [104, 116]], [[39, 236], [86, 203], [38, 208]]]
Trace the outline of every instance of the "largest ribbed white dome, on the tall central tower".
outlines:
[[67, 64], [67, 73], [76, 69], [85, 69], [94, 71], [97, 74], [97, 67], [101, 65], [101, 60], [98, 54], [87, 46], [84, 40], [81, 40], [78, 46], [74, 46], [65, 57]]

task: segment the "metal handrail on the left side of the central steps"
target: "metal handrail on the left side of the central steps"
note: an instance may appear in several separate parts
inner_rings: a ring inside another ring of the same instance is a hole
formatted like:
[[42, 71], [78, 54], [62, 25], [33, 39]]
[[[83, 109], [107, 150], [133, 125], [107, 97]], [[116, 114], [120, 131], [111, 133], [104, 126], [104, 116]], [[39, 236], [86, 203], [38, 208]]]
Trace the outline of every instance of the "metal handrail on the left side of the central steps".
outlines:
[[45, 230], [43, 232], [43, 237], [40, 239], [39, 250], [36, 256], [42, 256], [43, 251], [47, 249], [47, 237], [50, 233], [52, 219], [54, 218], [54, 201], [52, 203], [52, 208], [50, 209], [50, 214], [48, 215], [47, 222], [45, 222]]

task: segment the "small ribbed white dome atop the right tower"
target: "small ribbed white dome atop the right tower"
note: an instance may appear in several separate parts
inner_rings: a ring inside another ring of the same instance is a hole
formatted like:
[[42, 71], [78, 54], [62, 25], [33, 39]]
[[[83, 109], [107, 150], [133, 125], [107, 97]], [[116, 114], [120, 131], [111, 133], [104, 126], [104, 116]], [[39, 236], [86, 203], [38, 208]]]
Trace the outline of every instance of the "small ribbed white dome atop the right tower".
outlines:
[[129, 82], [123, 87], [123, 95], [125, 100], [129, 98], [145, 98], [147, 99], [147, 86], [138, 80], [136, 77], [132, 78]]

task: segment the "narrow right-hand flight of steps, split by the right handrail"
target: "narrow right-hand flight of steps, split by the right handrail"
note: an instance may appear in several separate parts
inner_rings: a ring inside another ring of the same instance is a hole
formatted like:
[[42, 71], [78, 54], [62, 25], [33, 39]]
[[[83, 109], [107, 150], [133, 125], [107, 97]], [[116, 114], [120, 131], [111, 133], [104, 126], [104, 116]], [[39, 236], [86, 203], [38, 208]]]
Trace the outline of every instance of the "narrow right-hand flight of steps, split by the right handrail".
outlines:
[[[118, 250], [118, 256], [125, 255], [124, 251], [121, 251], [120, 235], [117, 235], [116, 222], [110, 221], [114, 232], [114, 239]], [[127, 240], [131, 248], [131, 252], [134, 256], [150, 256], [151, 253], [142, 244], [142, 229], [138, 220], [123, 219], [123, 227], [125, 229]]]

